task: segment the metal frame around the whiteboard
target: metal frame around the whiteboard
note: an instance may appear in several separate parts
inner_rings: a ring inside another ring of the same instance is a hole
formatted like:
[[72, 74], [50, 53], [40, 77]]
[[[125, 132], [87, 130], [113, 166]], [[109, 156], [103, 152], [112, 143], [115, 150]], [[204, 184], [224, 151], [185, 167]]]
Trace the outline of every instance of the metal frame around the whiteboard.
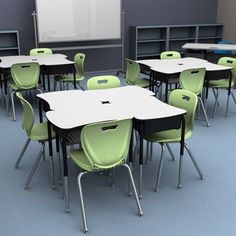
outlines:
[[[69, 42], [96, 42], [96, 41], [105, 41], [105, 40], [122, 40], [122, 24], [123, 24], [123, 20], [122, 20], [122, 17], [123, 17], [123, 9], [122, 9], [122, 0], [119, 0], [120, 1], [120, 31], [119, 31], [119, 37], [118, 38], [99, 38], [99, 39], [77, 39], [77, 40], [60, 40], [60, 41], [40, 41], [40, 37], [39, 37], [39, 25], [38, 25], [38, 14], [37, 14], [37, 2], [39, 0], [35, 0], [35, 11], [32, 13], [32, 15], [34, 16], [34, 27], [35, 27], [35, 41], [36, 41], [36, 47], [38, 47], [38, 43], [69, 43]], [[36, 39], [37, 38], [37, 39]]]

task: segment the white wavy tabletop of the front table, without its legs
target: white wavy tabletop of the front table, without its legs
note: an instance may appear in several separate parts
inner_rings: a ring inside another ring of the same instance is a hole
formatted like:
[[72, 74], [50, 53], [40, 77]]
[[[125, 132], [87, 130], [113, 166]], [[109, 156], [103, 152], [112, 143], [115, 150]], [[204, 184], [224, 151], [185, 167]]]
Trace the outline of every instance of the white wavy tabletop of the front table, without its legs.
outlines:
[[124, 86], [103, 90], [59, 91], [37, 96], [47, 101], [52, 109], [46, 113], [48, 120], [62, 129], [125, 118], [158, 119], [186, 112], [152, 95], [147, 89]]

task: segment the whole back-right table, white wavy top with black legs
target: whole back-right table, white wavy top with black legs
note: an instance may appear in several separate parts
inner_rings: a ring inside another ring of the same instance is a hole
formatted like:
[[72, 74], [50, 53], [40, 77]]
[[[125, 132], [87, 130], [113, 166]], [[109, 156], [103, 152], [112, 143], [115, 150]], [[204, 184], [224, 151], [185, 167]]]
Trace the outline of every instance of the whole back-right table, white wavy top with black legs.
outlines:
[[224, 77], [228, 78], [228, 76], [230, 76], [228, 88], [228, 93], [230, 94], [231, 67], [210, 63], [206, 60], [193, 57], [166, 60], [139, 60], [137, 62], [144, 66], [146, 70], [151, 70], [151, 90], [154, 89], [155, 80], [164, 82], [166, 84], [165, 101], [167, 101], [168, 96], [168, 83], [173, 77], [178, 77], [179, 74], [184, 70], [202, 67], [206, 68], [206, 99], [208, 98], [209, 80], [211, 79], [222, 79]]

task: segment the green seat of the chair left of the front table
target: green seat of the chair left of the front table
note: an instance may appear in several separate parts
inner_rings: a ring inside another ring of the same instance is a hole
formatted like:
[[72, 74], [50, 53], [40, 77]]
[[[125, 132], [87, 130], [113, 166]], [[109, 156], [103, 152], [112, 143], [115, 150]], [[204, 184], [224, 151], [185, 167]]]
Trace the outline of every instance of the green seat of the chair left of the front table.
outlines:
[[[52, 130], [52, 138], [55, 138], [55, 132]], [[36, 124], [32, 127], [29, 138], [36, 141], [48, 140], [47, 122]]]

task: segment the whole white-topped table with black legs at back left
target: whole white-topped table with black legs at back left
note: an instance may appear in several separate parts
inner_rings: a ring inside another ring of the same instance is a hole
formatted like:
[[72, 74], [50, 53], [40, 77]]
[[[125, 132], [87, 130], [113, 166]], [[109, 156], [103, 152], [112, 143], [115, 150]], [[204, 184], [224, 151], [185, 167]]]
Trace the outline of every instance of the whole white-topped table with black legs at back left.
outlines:
[[[45, 74], [48, 77], [48, 85], [50, 90], [50, 83], [49, 83], [49, 75], [52, 73], [52, 70], [60, 70], [61, 72], [67, 72], [68, 70], [74, 74], [75, 79], [75, 67], [74, 61], [69, 61], [66, 59], [66, 56], [63, 54], [52, 54], [52, 55], [35, 55], [35, 56], [6, 56], [0, 57], [0, 75], [3, 76], [3, 83], [4, 83], [4, 94], [6, 98], [6, 106], [8, 111], [8, 88], [7, 88], [7, 81], [8, 76], [7, 73], [10, 70], [11, 66], [17, 63], [28, 63], [28, 62], [37, 62], [41, 67], [41, 72], [43, 76]], [[2, 81], [2, 80], [1, 80]], [[74, 86], [76, 86], [74, 81]], [[2, 87], [2, 84], [1, 84]]]

